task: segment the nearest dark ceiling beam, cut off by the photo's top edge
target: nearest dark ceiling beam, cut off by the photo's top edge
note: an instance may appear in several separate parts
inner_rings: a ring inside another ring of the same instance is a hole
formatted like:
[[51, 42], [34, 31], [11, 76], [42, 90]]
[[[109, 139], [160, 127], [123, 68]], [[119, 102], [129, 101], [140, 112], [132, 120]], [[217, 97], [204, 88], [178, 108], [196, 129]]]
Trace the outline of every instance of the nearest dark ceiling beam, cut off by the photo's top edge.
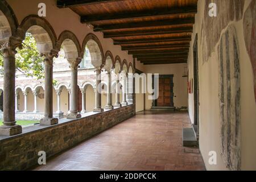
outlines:
[[118, 1], [127, 1], [127, 0], [81, 0], [81, 1], [67, 1], [67, 0], [57, 0], [57, 7], [67, 8], [67, 7], [76, 7], [76, 6], [86, 6], [86, 5], [97, 5], [100, 3], [110, 3]]

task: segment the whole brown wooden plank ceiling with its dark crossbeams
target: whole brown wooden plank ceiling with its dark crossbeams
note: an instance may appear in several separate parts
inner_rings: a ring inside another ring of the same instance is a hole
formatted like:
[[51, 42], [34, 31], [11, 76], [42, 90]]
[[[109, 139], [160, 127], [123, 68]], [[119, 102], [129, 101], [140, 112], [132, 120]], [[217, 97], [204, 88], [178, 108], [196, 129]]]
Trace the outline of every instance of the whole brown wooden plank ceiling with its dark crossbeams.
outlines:
[[187, 63], [197, 0], [59, 0], [143, 64]]

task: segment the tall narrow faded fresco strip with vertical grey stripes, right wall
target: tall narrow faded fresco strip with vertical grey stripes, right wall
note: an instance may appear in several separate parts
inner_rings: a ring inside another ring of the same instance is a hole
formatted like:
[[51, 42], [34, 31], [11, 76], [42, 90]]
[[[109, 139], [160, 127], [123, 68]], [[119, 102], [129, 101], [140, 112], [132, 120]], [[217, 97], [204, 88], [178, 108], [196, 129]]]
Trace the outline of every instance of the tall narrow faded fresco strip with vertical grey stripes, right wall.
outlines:
[[233, 26], [221, 36], [218, 46], [220, 71], [220, 117], [222, 158], [226, 167], [241, 169], [240, 53]]

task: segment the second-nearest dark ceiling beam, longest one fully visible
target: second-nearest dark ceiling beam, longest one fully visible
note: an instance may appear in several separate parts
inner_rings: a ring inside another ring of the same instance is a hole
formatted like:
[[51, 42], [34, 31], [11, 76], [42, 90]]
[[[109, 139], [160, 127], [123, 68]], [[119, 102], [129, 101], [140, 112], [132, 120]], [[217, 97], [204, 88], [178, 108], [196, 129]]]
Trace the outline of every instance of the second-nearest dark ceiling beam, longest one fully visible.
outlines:
[[196, 6], [187, 6], [183, 8], [172, 8], [168, 10], [155, 10], [154, 12], [130, 12], [125, 14], [106, 14], [106, 15], [90, 15], [81, 16], [81, 23], [108, 23], [115, 20], [133, 20], [137, 18], [157, 18], [171, 15], [190, 15], [196, 14]]

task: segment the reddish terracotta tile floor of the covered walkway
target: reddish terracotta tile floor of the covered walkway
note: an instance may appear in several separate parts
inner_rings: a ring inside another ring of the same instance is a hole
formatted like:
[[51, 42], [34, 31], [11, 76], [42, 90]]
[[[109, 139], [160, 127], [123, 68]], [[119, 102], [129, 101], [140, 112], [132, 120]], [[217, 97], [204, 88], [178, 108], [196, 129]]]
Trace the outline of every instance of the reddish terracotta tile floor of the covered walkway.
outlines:
[[201, 154], [184, 151], [184, 126], [187, 113], [145, 111], [35, 170], [205, 170]]

